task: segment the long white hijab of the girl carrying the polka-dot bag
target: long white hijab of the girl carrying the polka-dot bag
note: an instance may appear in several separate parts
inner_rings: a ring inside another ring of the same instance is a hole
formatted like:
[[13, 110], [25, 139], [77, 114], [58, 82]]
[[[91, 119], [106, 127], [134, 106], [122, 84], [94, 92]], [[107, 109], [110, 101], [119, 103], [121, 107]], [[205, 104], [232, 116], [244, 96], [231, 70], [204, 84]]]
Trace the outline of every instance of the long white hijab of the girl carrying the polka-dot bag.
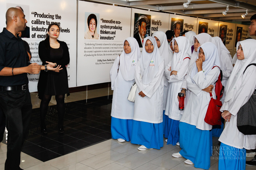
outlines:
[[[245, 68], [251, 64], [256, 63], [256, 40], [255, 39], [245, 39], [243, 41], [237, 42], [236, 50], [238, 46], [241, 44], [244, 52], [244, 59], [243, 60], [236, 60], [236, 64], [231, 72], [228, 82], [225, 87], [226, 96], [224, 102], [230, 101], [231, 98], [235, 96], [235, 88], [238, 80], [240, 80], [241, 76], [244, 73]], [[255, 79], [255, 77], [252, 77]], [[237, 89], [238, 90], [238, 89]]]

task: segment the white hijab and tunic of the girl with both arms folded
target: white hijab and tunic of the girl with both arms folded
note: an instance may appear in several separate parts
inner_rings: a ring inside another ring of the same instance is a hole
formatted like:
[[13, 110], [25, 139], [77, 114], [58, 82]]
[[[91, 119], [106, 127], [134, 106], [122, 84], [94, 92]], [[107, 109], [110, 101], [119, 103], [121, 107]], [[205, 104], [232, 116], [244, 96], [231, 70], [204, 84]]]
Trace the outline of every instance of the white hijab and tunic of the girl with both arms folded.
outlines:
[[[182, 112], [178, 110], [177, 95], [180, 92], [181, 84], [184, 76], [187, 74], [188, 65], [191, 57], [190, 43], [186, 37], [180, 36], [173, 38], [172, 42], [177, 42], [179, 52], [174, 53], [173, 59], [169, 62], [164, 70], [165, 77], [169, 80], [166, 111], [164, 112], [170, 119], [180, 120]], [[168, 69], [171, 66], [171, 71], [177, 71], [177, 75], [170, 75]]]

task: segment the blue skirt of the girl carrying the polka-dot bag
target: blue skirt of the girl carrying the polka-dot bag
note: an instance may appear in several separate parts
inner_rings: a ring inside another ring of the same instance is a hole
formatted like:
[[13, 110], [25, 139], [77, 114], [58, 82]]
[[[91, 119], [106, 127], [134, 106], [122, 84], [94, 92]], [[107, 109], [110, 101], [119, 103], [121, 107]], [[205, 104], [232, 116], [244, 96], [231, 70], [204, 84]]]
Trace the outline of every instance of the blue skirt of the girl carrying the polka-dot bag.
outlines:
[[238, 149], [221, 143], [219, 169], [245, 170], [246, 150]]

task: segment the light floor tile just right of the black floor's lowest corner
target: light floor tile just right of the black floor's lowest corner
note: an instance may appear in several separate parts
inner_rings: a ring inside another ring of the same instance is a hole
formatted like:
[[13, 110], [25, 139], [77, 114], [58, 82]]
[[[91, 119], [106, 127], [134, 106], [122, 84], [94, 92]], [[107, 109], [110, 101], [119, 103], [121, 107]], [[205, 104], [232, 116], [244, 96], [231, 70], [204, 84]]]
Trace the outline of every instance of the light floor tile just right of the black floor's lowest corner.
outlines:
[[72, 152], [70, 154], [60, 156], [53, 160], [46, 161], [45, 163], [58, 169], [68, 167], [76, 163], [76, 152]]

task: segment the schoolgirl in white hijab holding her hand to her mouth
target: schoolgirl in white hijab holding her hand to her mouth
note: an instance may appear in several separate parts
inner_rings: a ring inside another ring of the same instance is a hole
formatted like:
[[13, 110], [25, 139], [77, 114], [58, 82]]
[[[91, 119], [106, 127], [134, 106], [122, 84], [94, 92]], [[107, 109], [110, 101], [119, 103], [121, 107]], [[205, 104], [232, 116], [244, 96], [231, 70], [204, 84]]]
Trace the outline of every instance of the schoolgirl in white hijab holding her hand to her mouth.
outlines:
[[[173, 157], [185, 157], [185, 163], [196, 168], [209, 169], [212, 147], [211, 125], [204, 121], [210, 102], [210, 94], [202, 89], [214, 85], [220, 75], [220, 59], [217, 47], [207, 42], [198, 50], [198, 57], [188, 79], [188, 89], [192, 91], [180, 120], [180, 146], [182, 150]], [[218, 67], [214, 67], [218, 66]], [[213, 90], [213, 97], [215, 93]]]

